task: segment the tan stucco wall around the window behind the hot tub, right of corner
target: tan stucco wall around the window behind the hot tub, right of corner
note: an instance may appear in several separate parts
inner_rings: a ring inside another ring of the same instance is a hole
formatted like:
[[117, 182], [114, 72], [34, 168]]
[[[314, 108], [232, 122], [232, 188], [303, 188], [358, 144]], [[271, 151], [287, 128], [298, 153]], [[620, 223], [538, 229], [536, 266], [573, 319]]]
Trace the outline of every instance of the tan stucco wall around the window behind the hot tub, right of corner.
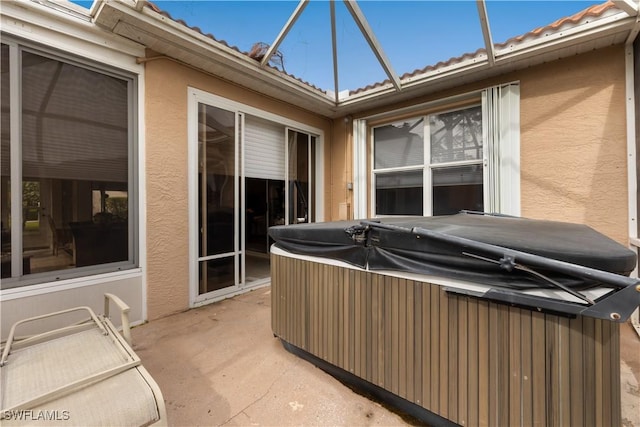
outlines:
[[[624, 48], [532, 67], [384, 110], [406, 107], [491, 85], [520, 82], [521, 214], [587, 224], [628, 243]], [[366, 117], [384, 111], [363, 111]], [[336, 119], [331, 156], [351, 162], [350, 130]], [[348, 163], [350, 168], [350, 164]], [[335, 175], [335, 180], [344, 175]], [[346, 185], [334, 182], [335, 188]], [[332, 211], [351, 202], [332, 193]]]

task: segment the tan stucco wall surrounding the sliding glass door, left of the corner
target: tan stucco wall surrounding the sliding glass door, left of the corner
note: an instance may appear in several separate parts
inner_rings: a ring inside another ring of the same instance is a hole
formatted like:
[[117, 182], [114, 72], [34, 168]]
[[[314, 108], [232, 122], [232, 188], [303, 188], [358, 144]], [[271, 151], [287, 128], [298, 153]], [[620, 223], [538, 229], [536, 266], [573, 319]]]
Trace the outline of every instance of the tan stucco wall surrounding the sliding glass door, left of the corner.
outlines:
[[[166, 59], [145, 65], [147, 308], [150, 320], [189, 306], [187, 88], [189, 86], [322, 129], [330, 121]], [[325, 155], [325, 176], [331, 176]], [[325, 185], [325, 199], [331, 188]], [[325, 207], [327, 210], [328, 207]], [[325, 216], [329, 213], [326, 212]]]

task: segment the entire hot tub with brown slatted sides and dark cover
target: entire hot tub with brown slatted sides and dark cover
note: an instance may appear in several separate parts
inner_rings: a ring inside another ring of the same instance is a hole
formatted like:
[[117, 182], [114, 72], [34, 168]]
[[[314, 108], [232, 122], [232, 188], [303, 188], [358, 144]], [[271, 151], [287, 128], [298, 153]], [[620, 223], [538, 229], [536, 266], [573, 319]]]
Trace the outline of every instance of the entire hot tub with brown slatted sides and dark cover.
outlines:
[[285, 346], [430, 425], [620, 425], [633, 252], [463, 213], [272, 227]]

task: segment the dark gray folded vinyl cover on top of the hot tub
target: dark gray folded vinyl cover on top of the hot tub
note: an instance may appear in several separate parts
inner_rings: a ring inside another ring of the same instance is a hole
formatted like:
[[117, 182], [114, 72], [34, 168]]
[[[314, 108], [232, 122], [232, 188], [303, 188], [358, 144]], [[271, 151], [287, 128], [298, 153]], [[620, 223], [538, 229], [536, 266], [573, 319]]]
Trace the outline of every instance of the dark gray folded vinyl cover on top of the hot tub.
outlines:
[[[332, 258], [368, 270], [487, 285], [490, 291], [475, 296], [516, 305], [541, 305], [522, 291], [559, 288], [593, 311], [596, 301], [581, 291], [595, 287], [616, 292], [634, 288], [625, 291], [629, 300], [622, 311], [631, 310], [628, 315], [640, 304], [638, 281], [627, 277], [635, 268], [636, 254], [582, 224], [462, 212], [275, 226], [269, 235], [276, 246], [295, 254]], [[550, 311], [584, 311], [565, 307], [564, 302], [542, 302]], [[596, 317], [619, 320], [624, 316], [618, 308], [607, 306], [606, 313]]]

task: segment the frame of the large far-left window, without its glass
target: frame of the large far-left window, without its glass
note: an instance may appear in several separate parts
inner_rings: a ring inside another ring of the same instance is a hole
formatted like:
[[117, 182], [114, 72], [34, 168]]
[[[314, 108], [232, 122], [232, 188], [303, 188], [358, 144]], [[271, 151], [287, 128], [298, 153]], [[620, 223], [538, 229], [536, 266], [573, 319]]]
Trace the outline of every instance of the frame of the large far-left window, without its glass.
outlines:
[[[10, 122], [10, 192], [11, 192], [11, 271], [19, 272], [19, 275], [3, 278], [0, 290], [4, 293], [9, 290], [19, 290], [33, 285], [42, 285], [51, 282], [60, 282], [67, 279], [94, 276], [99, 274], [118, 275], [126, 271], [134, 271], [140, 268], [140, 197], [141, 190], [141, 163], [139, 158], [139, 97], [141, 96], [140, 73], [100, 62], [96, 59], [87, 59], [76, 53], [63, 52], [54, 48], [40, 45], [37, 42], [14, 38], [2, 34], [2, 44], [9, 48], [9, 122]], [[128, 259], [108, 264], [96, 264], [83, 267], [73, 267], [62, 270], [51, 270], [40, 273], [24, 274], [22, 270], [23, 235], [20, 227], [22, 220], [22, 182], [25, 179], [22, 169], [22, 53], [28, 52], [47, 59], [70, 64], [101, 75], [120, 79], [127, 85], [127, 240]], [[16, 203], [17, 201], [17, 203]], [[14, 255], [19, 254], [19, 255]]]

